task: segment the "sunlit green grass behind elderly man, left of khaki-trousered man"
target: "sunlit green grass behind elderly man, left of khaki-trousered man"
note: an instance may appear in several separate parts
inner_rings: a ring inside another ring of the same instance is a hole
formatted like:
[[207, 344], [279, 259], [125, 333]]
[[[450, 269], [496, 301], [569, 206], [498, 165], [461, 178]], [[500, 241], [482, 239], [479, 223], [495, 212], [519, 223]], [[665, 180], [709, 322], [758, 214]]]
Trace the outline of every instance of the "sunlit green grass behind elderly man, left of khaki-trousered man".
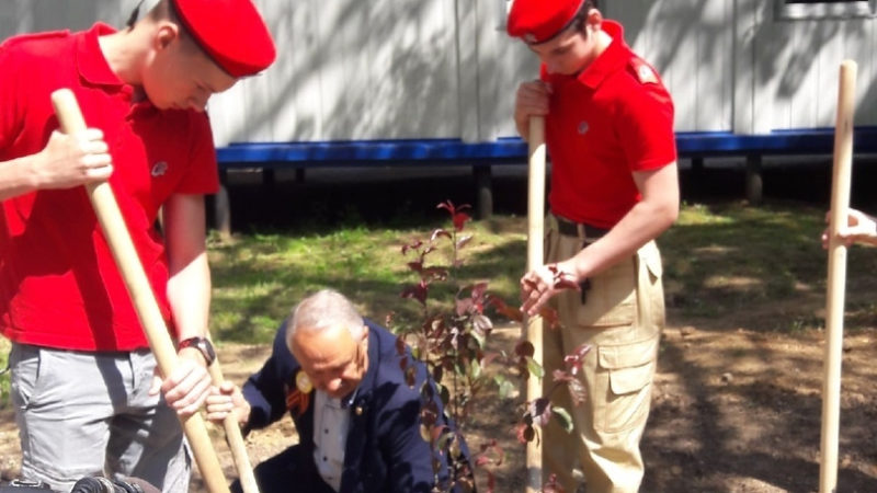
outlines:
[[[265, 343], [295, 303], [308, 293], [330, 287], [357, 303], [364, 314], [383, 322], [390, 312], [415, 318], [420, 305], [400, 298], [402, 286], [418, 278], [407, 267], [414, 260], [401, 246], [414, 239], [429, 240], [443, 222], [422, 229], [392, 227], [339, 227], [333, 231], [296, 236], [252, 233], [230, 242], [210, 241], [213, 272], [212, 331], [218, 341]], [[474, 238], [463, 250], [464, 265], [453, 283], [436, 289], [437, 300], [449, 285], [490, 280], [490, 291], [508, 300], [516, 298], [523, 273], [526, 238], [521, 220], [500, 218], [469, 223], [462, 234]], [[428, 256], [429, 264], [451, 263], [449, 243]]]

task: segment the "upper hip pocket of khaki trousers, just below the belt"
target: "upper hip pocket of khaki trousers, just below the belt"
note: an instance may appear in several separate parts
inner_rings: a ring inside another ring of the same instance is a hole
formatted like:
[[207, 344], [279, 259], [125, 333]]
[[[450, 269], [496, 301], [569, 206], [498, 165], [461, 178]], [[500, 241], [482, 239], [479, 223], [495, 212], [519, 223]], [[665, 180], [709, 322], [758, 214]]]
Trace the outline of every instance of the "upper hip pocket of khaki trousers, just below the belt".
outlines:
[[634, 257], [618, 262], [590, 279], [590, 288], [571, 293], [567, 302], [574, 307], [579, 326], [617, 326], [634, 323], [637, 313], [637, 271]]

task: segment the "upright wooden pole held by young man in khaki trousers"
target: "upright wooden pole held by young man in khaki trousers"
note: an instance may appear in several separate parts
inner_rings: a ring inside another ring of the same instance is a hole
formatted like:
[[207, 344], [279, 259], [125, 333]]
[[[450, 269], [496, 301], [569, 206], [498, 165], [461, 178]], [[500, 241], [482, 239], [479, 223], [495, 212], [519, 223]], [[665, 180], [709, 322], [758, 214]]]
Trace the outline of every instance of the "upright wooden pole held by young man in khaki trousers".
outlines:
[[[529, 164], [527, 190], [527, 271], [545, 263], [543, 242], [545, 241], [545, 118], [529, 117]], [[526, 337], [533, 348], [533, 357], [543, 364], [543, 319], [527, 317], [524, 319]], [[527, 402], [533, 402], [543, 394], [542, 379], [531, 375], [527, 378]], [[527, 493], [542, 491], [542, 438], [527, 443]]]

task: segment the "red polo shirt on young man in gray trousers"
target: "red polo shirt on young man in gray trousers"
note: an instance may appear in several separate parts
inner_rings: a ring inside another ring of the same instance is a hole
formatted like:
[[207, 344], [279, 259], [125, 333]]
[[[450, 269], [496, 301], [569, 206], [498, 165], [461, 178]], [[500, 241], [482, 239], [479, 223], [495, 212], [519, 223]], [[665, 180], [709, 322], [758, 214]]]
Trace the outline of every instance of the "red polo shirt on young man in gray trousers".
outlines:
[[[156, 229], [172, 195], [214, 193], [209, 122], [193, 111], [132, 103], [103, 57], [95, 24], [70, 34], [23, 35], [0, 45], [0, 161], [42, 150], [58, 128], [49, 95], [73, 91], [88, 126], [110, 146], [110, 184], [169, 322], [168, 262]], [[39, 191], [2, 202], [0, 332], [12, 341], [81, 351], [147, 347], [122, 276], [84, 187]]]

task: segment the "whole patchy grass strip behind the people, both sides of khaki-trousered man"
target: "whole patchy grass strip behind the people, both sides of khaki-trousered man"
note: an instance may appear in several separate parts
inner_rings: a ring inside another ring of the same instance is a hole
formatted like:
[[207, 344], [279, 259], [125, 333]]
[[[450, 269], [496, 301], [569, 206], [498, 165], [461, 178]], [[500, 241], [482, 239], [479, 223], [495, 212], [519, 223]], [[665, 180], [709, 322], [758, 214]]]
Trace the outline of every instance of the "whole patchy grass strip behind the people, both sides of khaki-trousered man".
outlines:
[[[716, 329], [797, 333], [818, 329], [824, 306], [827, 254], [819, 236], [824, 211], [797, 203], [749, 207], [741, 203], [686, 204], [659, 240], [670, 322]], [[351, 225], [355, 221], [344, 221]], [[251, 233], [213, 241], [212, 330], [219, 341], [264, 343], [306, 294], [332, 287], [349, 295], [368, 317], [389, 312], [417, 320], [419, 305], [401, 299], [415, 280], [400, 248], [428, 239], [441, 221], [422, 227], [341, 226], [331, 231]], [[486, 279], [508, 302], [517, 299], [524, 270], [526, 219], [500, 217], [467, 225], [474, 240], [463, 251], [459, 278], [440, 286], [445, 303], [452, 286]], [[431, 262], [447, 264], [446, 251]], [[443, 256], [444, 255], [444, 256]], [[848, 251], [847, 325], [874, 326], [877, 251]]]

